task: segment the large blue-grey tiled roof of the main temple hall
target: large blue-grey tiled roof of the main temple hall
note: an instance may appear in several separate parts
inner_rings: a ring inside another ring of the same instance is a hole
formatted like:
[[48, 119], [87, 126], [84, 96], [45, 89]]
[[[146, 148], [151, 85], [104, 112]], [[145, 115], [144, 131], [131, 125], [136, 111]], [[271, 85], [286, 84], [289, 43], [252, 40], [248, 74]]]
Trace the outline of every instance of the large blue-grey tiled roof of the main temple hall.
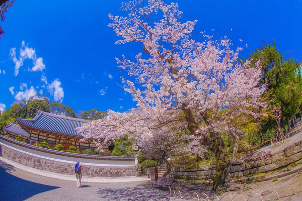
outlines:
[[18, 123], [39, 130], [49, 131], [52, 133], [82, 137], [75, 129], [81, 127], [89, 120], [65, 117], [39, 111], [32, 120], [17, 119]]

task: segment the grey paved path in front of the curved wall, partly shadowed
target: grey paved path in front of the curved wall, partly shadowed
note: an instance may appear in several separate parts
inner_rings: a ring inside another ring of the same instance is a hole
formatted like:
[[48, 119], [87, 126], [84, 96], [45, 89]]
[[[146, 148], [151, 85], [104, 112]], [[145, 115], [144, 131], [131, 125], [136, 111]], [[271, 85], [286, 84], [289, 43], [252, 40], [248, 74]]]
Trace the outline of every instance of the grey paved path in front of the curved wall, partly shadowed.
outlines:
[[0, 161], [0, 200], [179, 200], [146, 182], [85, 183], [39, 176]]

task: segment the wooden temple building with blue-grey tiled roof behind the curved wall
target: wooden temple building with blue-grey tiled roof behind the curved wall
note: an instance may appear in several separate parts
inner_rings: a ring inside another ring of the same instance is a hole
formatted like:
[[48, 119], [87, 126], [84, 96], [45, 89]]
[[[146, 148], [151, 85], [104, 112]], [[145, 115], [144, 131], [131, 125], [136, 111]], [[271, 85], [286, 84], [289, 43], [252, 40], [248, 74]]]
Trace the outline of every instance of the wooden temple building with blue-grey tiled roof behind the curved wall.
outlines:
[[[89, 120], [65, 117], [39, 111], [34, 119], [28, 120], [18, 118], [17, 122], [20, 125], [21, 130], [25, 131], [29, 135], [29, 144], [44, 141], [53, 148], [55, 145], [60, 143], [63, 145], [65, 150], [69, 146], [73, 145], [76, 146], [77, 150], [80, 152], [85, 149], [97, 148], [97, 146], [92, 143], [92, 140], [80, 142], [80, 140], [83, 139], [83, 136], [75, 130], [76, 128], [81, 127], [84, 123], [89, 122]], [[10, 133], [9, 135], [11, 135], [11, 137], [14, 134], [15, 136], [22, 135], [22, 131], [17, 129], [18, 125], [10, 125], [5, 127], [4, 130], [7, 133]], [[113, 146], [104, 145], [103, 149], [112, 150]]]

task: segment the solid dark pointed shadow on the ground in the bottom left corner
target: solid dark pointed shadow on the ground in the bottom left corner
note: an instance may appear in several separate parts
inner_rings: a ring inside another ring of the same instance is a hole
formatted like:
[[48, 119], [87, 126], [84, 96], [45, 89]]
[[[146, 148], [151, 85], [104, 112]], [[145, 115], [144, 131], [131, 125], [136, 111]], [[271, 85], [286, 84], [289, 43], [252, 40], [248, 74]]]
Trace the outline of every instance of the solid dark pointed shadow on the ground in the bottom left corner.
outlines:
[[[10, 174], [13, 171], [16, 171], [14, 166], [0, 161], [0, 178], [2, 181], [0, 185], [0, 200], [25, 200], [41, 192], [59, 188], [21, 179]], [[8, 184], [10, 185], [9, 188], [7, 187]]]

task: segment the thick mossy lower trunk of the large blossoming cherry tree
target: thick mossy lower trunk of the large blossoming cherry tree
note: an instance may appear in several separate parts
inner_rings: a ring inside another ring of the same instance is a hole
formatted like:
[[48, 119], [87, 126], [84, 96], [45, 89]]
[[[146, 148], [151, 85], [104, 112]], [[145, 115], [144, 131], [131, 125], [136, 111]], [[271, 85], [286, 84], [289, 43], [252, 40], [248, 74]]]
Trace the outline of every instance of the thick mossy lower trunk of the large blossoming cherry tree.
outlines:
[[232, 177], [230, 173], [230, 157], [224, 147], [224, 142], [218, 133], [210, 133], [212, 146], [211, 150], [216, 158], [216, 172], [213, 179], [213, 189], [218, 190], [219, 187], [231, 182]]

